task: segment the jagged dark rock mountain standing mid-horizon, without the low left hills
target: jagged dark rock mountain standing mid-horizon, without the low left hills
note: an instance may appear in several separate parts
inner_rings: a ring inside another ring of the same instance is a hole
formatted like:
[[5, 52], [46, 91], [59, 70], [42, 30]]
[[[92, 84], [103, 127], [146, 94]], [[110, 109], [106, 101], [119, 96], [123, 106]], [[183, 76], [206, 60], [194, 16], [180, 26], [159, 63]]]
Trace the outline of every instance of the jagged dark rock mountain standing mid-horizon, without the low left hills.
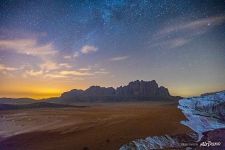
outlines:
[[116, 89], [112, 87], [91, 86], [86, 90], [71, 90], [65, 92], [57, 101], [61, 102], [93, 102], [93, 101], [134, 101], [150, 99], [174, 98], [169, 94], [167, 88], [158, 86], [155, 80], [133, 81], [126, 86]]

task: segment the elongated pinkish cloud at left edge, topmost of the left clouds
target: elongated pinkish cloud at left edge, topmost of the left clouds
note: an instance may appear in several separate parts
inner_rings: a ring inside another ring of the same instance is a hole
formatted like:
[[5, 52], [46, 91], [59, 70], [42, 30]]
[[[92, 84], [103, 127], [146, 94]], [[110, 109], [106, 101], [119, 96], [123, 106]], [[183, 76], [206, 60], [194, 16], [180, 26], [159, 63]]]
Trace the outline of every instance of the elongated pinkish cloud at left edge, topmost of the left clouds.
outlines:
[[54, 55], [57, 51], [54, 49], [52, 43], [39, 45], [35, 39], [8, 39], [0, 40], [0, 50], [10, 50], [18, 54], [32, 55], [32, 56], [47, 56]]

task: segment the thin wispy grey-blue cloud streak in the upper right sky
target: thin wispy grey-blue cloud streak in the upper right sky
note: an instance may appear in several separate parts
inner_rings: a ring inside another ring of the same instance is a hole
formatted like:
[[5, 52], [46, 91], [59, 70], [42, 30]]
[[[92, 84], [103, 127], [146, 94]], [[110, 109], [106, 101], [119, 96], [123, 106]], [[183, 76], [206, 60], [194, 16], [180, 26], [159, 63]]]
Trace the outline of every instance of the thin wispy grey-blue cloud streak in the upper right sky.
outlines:
[[174, 22], [172, 26], [160, 29], [151, 37], [149, 41], [150, 48], [174, 49], [182, 47], [213, 27], [223, 24], [225, 16], [213, 16], [185, 23]]

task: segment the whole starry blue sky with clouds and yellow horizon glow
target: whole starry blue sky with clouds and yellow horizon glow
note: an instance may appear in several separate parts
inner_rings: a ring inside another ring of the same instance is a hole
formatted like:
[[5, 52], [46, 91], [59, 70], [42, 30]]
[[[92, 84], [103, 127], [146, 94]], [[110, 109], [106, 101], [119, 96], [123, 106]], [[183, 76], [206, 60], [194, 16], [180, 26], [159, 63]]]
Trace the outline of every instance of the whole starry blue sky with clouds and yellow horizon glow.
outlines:
[[156, 80], [225, 89], [224, 0], [1, 0], [0, 97]]

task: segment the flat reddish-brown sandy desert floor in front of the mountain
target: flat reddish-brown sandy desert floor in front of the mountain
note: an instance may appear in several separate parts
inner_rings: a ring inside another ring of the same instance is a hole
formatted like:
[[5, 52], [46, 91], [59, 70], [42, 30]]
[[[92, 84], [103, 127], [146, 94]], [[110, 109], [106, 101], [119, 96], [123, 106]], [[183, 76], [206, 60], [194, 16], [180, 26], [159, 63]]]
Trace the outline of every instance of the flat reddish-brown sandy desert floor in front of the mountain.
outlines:
[[189, 129], [175, 104], [97, 104], [0, 112], [0, 149], [114, 150], [137, 138]]

